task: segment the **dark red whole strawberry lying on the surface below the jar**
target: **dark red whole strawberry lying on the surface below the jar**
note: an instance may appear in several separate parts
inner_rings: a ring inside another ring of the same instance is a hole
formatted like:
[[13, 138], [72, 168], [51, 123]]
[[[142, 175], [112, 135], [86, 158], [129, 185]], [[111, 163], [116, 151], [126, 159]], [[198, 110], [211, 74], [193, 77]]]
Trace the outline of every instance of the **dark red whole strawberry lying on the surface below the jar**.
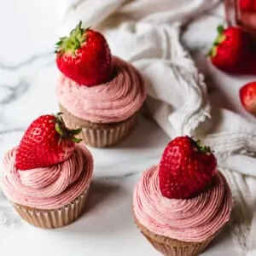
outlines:
[[218, 37], [209, 52], [212, 64], [226, 73], [256, 73], [253, 39], [239, 27], [218, 26]]

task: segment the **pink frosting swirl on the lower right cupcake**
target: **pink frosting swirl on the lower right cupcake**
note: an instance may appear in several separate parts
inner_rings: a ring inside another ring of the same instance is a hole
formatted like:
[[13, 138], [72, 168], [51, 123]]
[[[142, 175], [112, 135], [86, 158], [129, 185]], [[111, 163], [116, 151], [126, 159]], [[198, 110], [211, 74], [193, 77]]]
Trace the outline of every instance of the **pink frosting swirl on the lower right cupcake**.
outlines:
[[180, 241], [201, 242], [214, 235], [230, 219], [231, 192], [217, 172], [206, 192], [189, 200], [168, 199], [160, 192], [159, 166], [152, 166], [137, 183], [133, 209], [149, 231]]

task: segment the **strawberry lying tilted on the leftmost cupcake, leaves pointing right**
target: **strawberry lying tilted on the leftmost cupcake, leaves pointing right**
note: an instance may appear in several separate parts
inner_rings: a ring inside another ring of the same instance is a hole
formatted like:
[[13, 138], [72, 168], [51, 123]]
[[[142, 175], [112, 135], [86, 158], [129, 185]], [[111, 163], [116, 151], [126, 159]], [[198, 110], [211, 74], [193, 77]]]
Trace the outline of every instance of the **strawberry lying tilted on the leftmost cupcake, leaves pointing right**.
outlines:
[[66, 160], [80, 140], [75, 135], [81, 130], [69, 130], [61, 113], [42, 115], [27, 128], [15, 157], [19, 170], [52, 166]]

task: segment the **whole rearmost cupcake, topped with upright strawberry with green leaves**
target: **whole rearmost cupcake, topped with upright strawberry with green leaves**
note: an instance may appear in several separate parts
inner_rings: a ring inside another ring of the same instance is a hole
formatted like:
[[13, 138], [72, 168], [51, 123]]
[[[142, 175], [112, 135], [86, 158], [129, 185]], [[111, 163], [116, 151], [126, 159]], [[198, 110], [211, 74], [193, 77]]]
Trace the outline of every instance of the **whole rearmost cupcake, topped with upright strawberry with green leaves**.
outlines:
[[[79, 43], [72, 44], [74, 38]], [[102, 34], [80, 23], [69, 38], [61, 39], [56, 53], [61, 70], [56, 94], [67, 127], [81, 127], [79, 137], [93, 147], [121, 142], [136, 124], [146, 97], [137, 69], [112, 57]]]

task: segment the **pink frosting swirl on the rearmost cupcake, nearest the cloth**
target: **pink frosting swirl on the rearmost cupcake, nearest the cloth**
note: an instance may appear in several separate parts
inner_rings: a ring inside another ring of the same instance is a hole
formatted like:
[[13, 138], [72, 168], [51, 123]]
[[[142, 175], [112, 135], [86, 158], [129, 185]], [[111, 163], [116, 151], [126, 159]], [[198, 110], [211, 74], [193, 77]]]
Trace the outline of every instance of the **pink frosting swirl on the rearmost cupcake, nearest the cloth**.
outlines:
[[113, 57], [114, 78], [106, 84], [81, 86], [61, 74], [56, 93], [62, 107], [94, 123], [113, 123], [131, 117], [142, 107], [146, 90], [141, 75], [126, 61]]

